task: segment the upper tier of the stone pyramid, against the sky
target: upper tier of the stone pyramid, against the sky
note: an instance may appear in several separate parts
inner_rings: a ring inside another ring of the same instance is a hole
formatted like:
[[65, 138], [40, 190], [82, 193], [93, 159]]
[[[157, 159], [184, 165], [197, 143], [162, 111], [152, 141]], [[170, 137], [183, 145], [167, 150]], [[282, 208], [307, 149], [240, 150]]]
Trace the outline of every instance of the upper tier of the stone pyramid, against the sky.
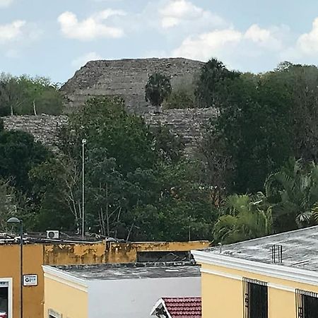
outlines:
[[117, 95], [124, 98], [129, 112], [152, 112], [145, 100], [148, 77], [158, 72], [171, 78], [172, 88], [192, 86], [199, 75], [201, 61], [191, 59], [121, 59], [90, 61], [61, 88], [66, 98], [66, 110], [93, 96]]

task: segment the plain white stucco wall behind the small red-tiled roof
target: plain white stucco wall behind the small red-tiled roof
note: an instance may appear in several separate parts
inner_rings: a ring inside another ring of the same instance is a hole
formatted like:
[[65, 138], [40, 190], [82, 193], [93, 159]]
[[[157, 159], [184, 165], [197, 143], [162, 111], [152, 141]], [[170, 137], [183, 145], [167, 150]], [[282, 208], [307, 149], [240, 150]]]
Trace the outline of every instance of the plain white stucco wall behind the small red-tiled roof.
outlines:
[[163, 297], [201, 297], [201, 278], [90, 281], [88, 318], [149, 318]]

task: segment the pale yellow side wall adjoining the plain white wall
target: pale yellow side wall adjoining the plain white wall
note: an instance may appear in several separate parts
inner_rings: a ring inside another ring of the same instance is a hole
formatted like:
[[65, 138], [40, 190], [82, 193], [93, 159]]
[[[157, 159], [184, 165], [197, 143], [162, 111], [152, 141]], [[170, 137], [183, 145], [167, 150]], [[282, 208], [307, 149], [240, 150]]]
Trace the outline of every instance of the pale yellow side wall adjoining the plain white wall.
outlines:
[[45, 278], [45, 318], [48, 317], [49, 310], [54, 310], [63, 318], [87, 318], [87, 291]]

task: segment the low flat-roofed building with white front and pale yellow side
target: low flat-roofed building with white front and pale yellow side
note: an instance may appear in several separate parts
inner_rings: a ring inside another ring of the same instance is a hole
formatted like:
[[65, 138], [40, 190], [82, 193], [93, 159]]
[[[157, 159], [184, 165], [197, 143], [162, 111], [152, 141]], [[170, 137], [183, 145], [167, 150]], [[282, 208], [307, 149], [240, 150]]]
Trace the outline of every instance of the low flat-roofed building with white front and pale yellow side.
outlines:
[[193, 261], [43, 266], [45, 318], [147, 318], [160, 298], [198, 299]]

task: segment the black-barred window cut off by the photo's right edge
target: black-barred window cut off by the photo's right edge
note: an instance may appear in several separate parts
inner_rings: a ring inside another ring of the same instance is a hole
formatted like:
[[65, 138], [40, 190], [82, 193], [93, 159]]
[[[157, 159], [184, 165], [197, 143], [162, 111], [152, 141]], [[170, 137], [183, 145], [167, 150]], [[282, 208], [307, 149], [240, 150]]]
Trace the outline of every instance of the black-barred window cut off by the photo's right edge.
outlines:
[[318, 317], [318, 294], [296, 289], [297, 318]]

